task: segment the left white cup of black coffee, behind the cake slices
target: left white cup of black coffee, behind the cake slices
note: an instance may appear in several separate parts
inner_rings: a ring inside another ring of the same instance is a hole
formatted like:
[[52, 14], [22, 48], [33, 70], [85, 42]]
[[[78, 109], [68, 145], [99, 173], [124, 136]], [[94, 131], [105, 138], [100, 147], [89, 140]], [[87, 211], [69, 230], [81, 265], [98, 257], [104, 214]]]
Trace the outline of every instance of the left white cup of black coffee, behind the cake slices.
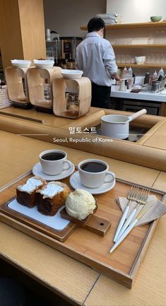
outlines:
[[[39, 155], [42, 171], [47, 175], [59, 175], [71, 167], [67, 153], [61, 150], [47, 150]], [[52, 159], [51, 159], [52, 158]], [[68, 166], [66, 167], [67, 164]]]

